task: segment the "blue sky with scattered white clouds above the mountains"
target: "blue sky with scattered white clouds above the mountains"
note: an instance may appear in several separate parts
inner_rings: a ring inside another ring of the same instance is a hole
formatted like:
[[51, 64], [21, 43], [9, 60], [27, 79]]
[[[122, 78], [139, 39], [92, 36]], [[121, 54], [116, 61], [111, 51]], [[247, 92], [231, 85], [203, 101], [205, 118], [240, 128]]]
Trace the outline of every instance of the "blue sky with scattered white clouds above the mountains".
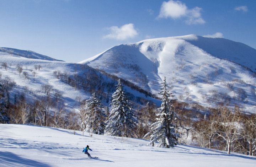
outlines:
[[79, 62], [122, 43], [187, 34], [256, 48], [256, 0], [0, 0], [0, 47]]

